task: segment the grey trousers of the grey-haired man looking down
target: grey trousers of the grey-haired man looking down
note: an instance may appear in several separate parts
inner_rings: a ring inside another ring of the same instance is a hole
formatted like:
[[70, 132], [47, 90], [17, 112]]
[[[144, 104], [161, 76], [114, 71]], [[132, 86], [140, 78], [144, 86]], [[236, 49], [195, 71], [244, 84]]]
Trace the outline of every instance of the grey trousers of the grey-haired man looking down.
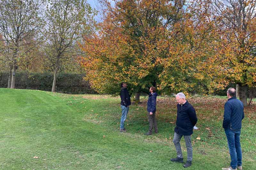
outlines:
[[[173, 143], [174, 143], [175, 148], [176, 148], [177, 158], [183, 158], [181, 147], [180, 147], [180, 139], [181, 139], [182, 136], [183, 135], [179, 135], [176, 132], [174, 132]], [[185, 139], [185, 142], [186, 142], [186, 147], [187, 147], [187, 152], [188, 152], [187, 161], [192, 161], [193, 148], [192, 148], [192, 144], [191, 144], [191, 135], [184, 136], [184, 139]]]

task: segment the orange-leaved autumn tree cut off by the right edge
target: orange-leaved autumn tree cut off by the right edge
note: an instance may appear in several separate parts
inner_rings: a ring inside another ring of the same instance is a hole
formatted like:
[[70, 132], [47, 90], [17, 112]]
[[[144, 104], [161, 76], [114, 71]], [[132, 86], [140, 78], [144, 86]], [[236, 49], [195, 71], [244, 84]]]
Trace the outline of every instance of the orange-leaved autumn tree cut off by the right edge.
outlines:
[[247, 106], [248, 87], [256, 83], [256, 1], [213, 0], [212, 20], [218, 32], [218, 53], [213, 67], [218, 76], [239, 85], [239, 98]]

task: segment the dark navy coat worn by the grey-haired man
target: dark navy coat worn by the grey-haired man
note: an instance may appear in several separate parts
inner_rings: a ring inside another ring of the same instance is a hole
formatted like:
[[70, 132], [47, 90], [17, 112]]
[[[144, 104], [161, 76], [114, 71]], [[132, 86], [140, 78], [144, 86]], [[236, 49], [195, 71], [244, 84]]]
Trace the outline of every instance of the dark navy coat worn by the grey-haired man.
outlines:
[[188, 101], [182, 107], [180, 104], [177, 104], [177, 120], [174, 129], [177, 134], [185, 136], [192, 135], [196, 122], [196, 110]]

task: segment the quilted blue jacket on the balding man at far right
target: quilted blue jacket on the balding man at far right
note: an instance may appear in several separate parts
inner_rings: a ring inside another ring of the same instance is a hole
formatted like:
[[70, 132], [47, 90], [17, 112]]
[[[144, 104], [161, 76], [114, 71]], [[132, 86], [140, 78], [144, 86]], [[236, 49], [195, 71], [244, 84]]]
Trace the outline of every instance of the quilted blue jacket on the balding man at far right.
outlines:
[[244, 119], [244, 105], [236, 99], [229, 98], [224, 106], [224, 119], [222, 127], [224, 129], [239, 130], [242, 128], [242, 120]]

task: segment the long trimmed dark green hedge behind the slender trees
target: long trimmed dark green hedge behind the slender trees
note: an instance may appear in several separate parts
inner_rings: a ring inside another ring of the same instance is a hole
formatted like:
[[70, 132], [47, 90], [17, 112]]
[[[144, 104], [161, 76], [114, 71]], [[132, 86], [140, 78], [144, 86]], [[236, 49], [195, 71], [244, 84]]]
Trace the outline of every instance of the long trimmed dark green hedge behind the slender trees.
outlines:
[[[58, 73], [56, 92], [69, 94], [95, 94], [88, 82], [84, 81], [85, 74]], [[15, 88], [52, 91], [53, 74], [17, 72], [15, 75]], [[7, 88], [8, 73], [0, 73], [0, 87]]]

